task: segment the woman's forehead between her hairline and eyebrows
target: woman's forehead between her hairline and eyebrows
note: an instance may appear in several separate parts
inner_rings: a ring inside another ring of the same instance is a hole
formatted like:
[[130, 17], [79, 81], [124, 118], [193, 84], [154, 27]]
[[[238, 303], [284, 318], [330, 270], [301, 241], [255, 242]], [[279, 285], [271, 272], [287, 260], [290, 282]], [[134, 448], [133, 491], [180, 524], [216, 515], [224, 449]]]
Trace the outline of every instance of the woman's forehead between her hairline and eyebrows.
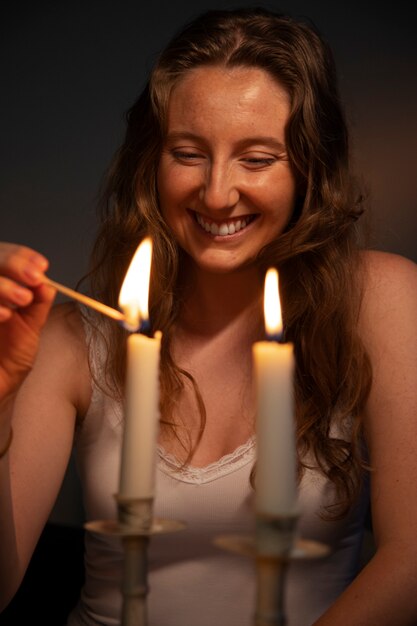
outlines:
[[254, 67], [204, 66], [189, 70], [173, 87], [168, 127], [191, 124], [282, 130], [290, 111], [285, 88], [268, 72]]

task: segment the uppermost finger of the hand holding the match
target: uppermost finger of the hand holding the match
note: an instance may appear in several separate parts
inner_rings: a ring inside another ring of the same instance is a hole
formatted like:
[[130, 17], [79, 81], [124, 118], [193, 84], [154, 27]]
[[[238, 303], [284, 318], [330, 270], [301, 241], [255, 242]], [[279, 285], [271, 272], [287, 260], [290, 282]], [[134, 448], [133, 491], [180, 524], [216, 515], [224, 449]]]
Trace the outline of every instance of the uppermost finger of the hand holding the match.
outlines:
[[39, 285], [48, 268], [48, 260], [39, 252], [11, 243], [0, 243], [0, 274], [28, 286]]

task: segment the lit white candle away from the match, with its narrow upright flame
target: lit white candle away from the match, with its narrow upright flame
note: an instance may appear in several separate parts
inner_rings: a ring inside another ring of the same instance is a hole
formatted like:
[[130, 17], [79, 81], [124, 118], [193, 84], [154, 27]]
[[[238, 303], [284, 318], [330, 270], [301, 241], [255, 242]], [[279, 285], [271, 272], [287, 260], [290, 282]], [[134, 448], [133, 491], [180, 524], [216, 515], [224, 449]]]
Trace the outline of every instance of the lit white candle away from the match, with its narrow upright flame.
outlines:
[[[265, 279], [267, 333], [282, 329], [278, 273]], [[275, 340], [253, 345], [257, 394], [256, 511], [287, 516], [297, 512], [297, 474], [294, 425], [294, 353], [291, 343]]]

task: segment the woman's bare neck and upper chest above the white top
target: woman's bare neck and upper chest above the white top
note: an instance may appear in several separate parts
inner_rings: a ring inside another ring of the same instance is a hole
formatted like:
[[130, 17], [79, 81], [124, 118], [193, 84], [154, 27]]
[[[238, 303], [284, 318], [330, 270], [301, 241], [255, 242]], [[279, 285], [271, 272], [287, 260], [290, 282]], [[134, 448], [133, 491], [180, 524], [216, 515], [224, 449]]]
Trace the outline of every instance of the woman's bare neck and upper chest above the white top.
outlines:
[[[262, 294], [240, 283], [214, 275], [195, 285], [193, 297], [179, 321], [173, 344], [176, 362], [187, 369], [203, 393], [207, 421], [191, 463], [206, 466], [246, 443], [254, 432], [255, 398], [252, 387], [252, 344], [262, 336]], [[220, 305], [220, 306], [219, 306]], [[255, 321], [255, 323], [254, 323]], [[258, 321], [258, 324], [256, 323]], [[187, 387], [174, 415], [186, 443], [196, 443], [200, 418], [191, 387]], [[184, 460], [176, 439], [162, 432], [163, 447]]]

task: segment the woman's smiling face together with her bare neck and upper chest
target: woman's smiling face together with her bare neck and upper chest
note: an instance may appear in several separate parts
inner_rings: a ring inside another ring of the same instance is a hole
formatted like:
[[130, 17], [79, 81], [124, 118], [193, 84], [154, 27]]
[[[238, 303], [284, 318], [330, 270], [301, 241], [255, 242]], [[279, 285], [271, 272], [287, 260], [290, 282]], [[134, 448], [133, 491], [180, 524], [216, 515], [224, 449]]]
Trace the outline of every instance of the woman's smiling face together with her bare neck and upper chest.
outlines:
[[[208, 67], [179, 82], [168, 113], [159, 196], [188, 253], [190, 285], [173, 349], [204, 392], [207, 423], [191, 459], [201, 466], [253, 434], [251, 351], [263, 336], [255, 259], [285, 228], [297, 192], [285, 149], [289, 99], [263, 70]], [[174, 419], [195, 443], [200, 422], [191, 388]], [[163, 445], [184, 457], [178, 441], [165, 435]]]

